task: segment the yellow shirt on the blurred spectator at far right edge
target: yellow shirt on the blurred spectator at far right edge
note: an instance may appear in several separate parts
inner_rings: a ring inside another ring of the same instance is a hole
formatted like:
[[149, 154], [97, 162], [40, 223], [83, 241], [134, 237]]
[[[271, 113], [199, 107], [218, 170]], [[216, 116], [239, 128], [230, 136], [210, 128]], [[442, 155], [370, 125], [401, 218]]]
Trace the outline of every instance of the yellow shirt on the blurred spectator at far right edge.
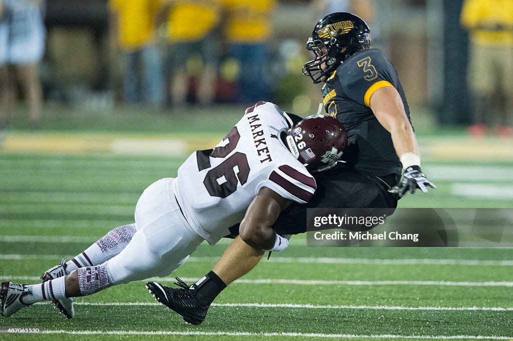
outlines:
[[513, 0], [466, 0], [461, 25], [477, 44], [513, 45]]

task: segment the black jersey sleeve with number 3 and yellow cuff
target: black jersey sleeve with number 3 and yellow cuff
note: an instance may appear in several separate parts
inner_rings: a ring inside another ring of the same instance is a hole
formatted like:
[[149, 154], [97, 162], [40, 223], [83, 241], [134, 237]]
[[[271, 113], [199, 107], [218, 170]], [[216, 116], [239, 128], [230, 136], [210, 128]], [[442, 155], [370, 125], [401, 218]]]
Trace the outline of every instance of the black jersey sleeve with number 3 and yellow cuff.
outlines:
[[346, 62], [349, 65], [344, 65], [344, 73], [337, 76], [344, 92], [352, 100], [370, 107], [370, 98], [376, 90], [395, 88], [391, 77], [395, 71], [383, 54], [362, 53]]

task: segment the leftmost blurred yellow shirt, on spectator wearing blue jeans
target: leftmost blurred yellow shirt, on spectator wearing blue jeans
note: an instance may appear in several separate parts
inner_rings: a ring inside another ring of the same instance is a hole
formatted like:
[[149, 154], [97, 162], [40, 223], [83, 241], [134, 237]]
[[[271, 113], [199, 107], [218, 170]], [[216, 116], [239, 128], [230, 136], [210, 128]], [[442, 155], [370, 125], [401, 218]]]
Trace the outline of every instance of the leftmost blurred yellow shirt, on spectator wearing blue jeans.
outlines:
[[154, 17], [162, 0], [110, 0], [110, 11], [118, 15], [122, 49], [141, 48], [155, 39]]

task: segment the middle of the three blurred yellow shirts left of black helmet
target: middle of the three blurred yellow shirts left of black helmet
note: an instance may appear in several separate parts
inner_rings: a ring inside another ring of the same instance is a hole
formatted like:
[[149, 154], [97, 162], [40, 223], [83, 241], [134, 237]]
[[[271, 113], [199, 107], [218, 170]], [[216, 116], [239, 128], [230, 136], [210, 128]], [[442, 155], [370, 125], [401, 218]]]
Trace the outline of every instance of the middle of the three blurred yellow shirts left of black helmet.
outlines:
[[220, 0], [178, 0], [174, 3], [168, 22], [171, 42], [200, 40], [219, 24]]

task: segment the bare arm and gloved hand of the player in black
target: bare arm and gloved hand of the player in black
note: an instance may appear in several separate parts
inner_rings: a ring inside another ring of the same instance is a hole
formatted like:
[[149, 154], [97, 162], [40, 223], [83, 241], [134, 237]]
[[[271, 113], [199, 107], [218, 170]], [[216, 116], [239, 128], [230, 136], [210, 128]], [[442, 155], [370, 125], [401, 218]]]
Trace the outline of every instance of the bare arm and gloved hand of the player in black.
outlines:
[[370, 109], [390, 133], [393, 146], [403, 164], [403, 179], [390, 192], [402, 197], [406, 191], [415, 193], [417, 188], [424, 193], [427, 192], [426, 187], [436, 188], [422, 173], [419, 145], [396, 88], [382, 87], [376, 90], [370, 98]]

